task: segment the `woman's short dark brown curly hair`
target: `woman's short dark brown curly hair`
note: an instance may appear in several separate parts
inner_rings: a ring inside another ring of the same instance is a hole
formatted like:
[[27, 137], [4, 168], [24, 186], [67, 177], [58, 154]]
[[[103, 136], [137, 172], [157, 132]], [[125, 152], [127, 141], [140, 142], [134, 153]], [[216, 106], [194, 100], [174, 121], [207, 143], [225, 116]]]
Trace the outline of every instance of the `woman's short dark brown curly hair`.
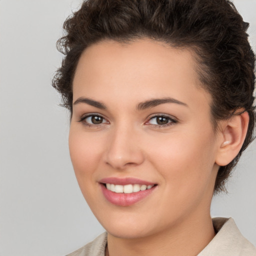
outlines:
[[104, 39], [131, 42], [147, 37], [176, 48], [190, 48], [196, 56], [201, 86], [212, 96], [211, 117], [217, 121], [247, 111], [249, 125], [236, 157], [220, 166], [214, 192], [225, 181], [241, 153], [253, 139], [255, 55], [244, 22], [229, 0], [86, 0], [64, 24], [57, 49], [65, 56], [53, 87], [62, 106], [72, 114], [72, 80], [83, 50]]

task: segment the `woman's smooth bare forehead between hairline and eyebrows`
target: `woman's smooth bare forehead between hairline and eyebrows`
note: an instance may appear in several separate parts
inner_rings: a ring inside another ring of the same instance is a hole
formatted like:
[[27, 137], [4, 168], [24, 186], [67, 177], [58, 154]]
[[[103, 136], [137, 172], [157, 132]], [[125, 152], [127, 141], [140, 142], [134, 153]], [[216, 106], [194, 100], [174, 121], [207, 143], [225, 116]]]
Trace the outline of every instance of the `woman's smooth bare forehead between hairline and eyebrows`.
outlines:
[[96, 96], [101, 101], [122, 98], [123, 104], [166, 96], [210, 101], [200, 87], [193, 52], [150, 39], [90, 45], [78, 61], [73, 95], [74, 100], [80, 96]]

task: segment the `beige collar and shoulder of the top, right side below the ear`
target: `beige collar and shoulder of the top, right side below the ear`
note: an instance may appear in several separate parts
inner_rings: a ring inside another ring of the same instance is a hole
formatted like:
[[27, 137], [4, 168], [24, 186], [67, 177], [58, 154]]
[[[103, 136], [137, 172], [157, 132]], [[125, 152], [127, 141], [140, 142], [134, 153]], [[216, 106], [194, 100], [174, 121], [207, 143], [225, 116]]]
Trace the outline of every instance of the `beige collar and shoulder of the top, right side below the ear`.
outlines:
[[240, 233], [232, 218], [213, 218], [215, 237], [198, 256], [256, 256], [256, 248]]

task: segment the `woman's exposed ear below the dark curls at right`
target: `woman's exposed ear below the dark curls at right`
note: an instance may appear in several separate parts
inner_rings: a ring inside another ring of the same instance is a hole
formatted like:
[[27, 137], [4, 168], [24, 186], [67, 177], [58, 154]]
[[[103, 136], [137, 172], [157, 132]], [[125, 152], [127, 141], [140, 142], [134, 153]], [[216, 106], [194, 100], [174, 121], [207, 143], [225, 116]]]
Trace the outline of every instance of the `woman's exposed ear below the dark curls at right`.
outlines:
[[238, 154], [246, 136], [248, 122], [247, 111], [234, 114], [228, 120], [220, 121], [216, 164], [224, 166]]

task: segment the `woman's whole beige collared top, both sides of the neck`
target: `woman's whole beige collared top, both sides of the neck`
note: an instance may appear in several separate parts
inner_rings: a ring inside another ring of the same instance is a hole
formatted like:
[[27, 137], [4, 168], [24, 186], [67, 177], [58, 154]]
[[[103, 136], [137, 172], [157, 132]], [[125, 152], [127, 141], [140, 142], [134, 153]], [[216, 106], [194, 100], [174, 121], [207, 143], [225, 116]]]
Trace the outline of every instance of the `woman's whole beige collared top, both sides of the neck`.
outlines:
[[[197, 256], [256, 256], [254, 247], [242, 236], [232, 218], [213, 218], [216, 235]], [[107, 233], [66, 256], [104, 256]]]

